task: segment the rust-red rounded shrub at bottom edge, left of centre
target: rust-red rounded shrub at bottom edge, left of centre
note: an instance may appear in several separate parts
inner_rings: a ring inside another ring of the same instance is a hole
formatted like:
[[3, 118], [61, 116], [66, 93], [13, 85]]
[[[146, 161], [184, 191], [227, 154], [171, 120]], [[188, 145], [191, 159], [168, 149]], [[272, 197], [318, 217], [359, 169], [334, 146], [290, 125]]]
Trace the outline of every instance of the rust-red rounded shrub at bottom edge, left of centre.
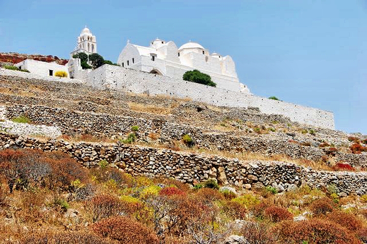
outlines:
[[123, 244], [159, 244], [151, 229], [127, 217], [111, 217], [92, 224], [94, 233]]

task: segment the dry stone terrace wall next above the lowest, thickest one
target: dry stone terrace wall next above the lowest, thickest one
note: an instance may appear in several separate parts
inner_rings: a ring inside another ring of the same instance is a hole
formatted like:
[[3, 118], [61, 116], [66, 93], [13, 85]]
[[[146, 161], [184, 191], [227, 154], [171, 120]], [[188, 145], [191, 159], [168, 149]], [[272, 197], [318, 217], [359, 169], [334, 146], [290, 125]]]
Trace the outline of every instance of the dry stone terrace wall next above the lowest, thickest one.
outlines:
[[[184, 134], [189, 134], [195, 144], [210, 150], [225, 150], [232, 152], [254, 152], [265, 155], [288, 155], [292, 158], [305, 158], [318, 161], [322, 155], [328, 154], [326, 149], [301, 146], [289, 143], [291, 136], [282, 135], [282, 139], [266, 137], [238, 136], [230, 133], [203, 133], [199, 128], [169, 123], [160, 119], [144, 119], [112, 114], [97, 114], [93, 112], [69, 111], [63, 108], [46, 106], [6, 106], [6, 116], [15, 118], [23, 116], [40, 125], [52, 125], [61, 129], [63, 134], [80, 135], [92, 134], [100, 137], [115, 135], [123, 138], [131, 133], [131, 127], [137, 125], [138, 139], [151, 142], [150, 133], [160, 135], [160, 143], [171, 143], [181, 140]], [[350, 155], [334, 152], [336, 160], [343, 160], [352, 166], [367, 166], [367, 155]]]

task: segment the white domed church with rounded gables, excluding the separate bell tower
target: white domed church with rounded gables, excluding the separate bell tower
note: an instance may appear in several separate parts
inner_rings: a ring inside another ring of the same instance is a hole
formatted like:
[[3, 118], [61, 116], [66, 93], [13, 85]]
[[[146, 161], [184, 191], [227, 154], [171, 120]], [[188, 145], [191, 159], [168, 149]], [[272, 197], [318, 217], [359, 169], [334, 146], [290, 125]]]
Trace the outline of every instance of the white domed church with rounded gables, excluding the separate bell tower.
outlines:
[[250, 93], [239, 82], [232, 58], [218, 53], [209, 53], [202, 45], [188, 42], [177, 48], [172, 41], [156, 39], [149, 46], [139, 46], [129, 42], [118, 57], [121, 67], [182, 79], [188, 70], [198, 69], [210, 75], [218, 88]]

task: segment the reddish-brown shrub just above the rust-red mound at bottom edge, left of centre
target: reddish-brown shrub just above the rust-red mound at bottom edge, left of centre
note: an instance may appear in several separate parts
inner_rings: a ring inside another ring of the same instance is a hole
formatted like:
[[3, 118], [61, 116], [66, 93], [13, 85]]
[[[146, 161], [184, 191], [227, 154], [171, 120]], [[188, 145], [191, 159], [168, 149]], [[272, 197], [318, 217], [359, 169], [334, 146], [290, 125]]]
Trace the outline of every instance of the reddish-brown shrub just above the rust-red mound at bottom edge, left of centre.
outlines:
[[117, 215], [121, 210], [120, 200], [107, 194], [94, 196], [87, 203], [87, 207], [92, 211], [93, 222]]

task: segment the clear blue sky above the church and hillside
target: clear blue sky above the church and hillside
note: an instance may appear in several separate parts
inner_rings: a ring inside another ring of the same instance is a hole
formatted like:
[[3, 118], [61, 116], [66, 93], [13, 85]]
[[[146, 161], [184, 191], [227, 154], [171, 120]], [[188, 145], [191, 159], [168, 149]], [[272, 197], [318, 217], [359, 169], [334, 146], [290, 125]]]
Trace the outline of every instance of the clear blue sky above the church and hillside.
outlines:
[[68, 58], [84, 25], [114, 62], [127, 39], [198, 42], [232, 56], [254, 94], [367, 133], [366, 0], [0, 0], [0, 52]]

